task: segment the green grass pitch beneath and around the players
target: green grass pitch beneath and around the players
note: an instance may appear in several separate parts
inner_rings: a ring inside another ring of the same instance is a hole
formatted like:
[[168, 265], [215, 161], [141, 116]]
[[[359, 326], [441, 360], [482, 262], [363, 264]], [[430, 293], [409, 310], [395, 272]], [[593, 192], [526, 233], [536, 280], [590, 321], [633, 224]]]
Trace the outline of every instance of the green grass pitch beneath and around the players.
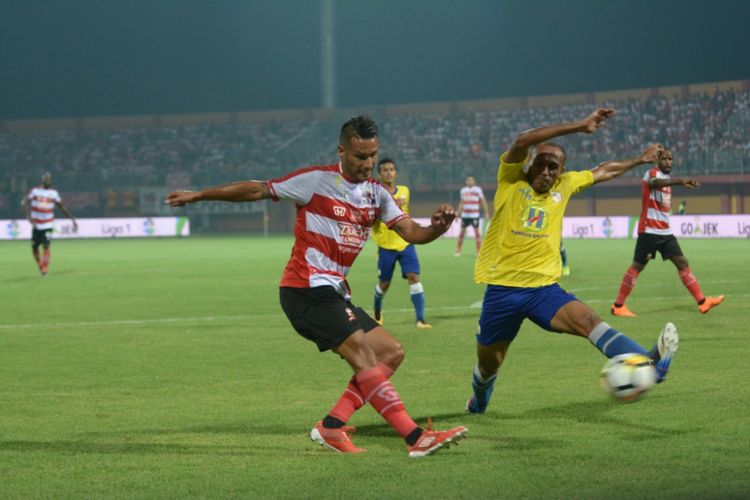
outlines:
[[[750, 241], [682, 240], [706, 294], [698, 313], [670, 263], [651, 263], [609, 315], [634, 241], [566, 241], [563, 286], [650, 347], [680, 350], [666, 383], [621, 404], [588, 342], [525, 324], [487, 414], [463, 411], [482, 288], [473, 242], [419, 247], [427, 317], [392, 284], [386, 327], [406, 348], [394, 384], [419, 422], [463, 424], [420, 460], [370, 408], [363, 455], [308, 438], [350, 377], [293, 332], [277, 283], [291, 237], [57, 241], [39, 276], [26, 242], [0, 244], [0, 498], [747, 498]], [[350, 274], [371, 309], [375, 251]]]

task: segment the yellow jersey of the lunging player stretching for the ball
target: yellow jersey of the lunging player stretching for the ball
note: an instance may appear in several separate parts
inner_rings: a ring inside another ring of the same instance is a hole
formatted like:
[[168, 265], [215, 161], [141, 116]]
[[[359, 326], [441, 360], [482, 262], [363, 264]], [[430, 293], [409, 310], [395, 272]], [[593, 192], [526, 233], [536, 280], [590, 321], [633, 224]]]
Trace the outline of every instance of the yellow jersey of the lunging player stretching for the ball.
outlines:
[[546, 193], [534, 191], [524, 165], [500, 157], [494, 215], [474, 266], [474, 281], [534, 288], [560, 279], [560, 242], [570, 197], [591, 186], [590, 170], [564, 172]]

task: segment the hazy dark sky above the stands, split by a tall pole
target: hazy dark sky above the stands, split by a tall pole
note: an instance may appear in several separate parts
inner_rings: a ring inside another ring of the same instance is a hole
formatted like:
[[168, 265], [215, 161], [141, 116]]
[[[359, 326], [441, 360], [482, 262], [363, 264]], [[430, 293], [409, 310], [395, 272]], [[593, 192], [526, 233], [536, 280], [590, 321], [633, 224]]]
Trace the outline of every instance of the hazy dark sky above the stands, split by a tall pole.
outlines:
[[[750, 79], [746, 0], [334, 0], [336, 104]], [[0, 118], [319, 107], [320, 0], [0, 0]]]

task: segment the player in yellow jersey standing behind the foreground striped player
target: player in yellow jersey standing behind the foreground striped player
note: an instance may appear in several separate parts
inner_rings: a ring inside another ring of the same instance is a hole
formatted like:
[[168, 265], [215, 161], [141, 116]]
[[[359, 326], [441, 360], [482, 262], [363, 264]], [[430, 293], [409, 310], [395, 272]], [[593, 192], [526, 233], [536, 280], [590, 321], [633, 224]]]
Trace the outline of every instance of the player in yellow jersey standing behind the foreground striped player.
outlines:
[[[378, 176], [380, 182], [393, 195], [396, 204], [404, 213], [409, 213], [409, 188], [396, 184], [396, 163], [390, 158], [383, 158], [378, 162]], [[409, 295], [414, 304], [414, 312], [417, 316], [417, 328], [432, 328], [432, 325], [424, 320], [424, 287], [419, 281], [419, 259], [414, 245], [404, 240], [401, 236], [377, 221], [372, 227], [372, 237], [378, 245], [378, 284], [374, 291], [374, 316], [375, 321], [383, 324], [383, 298], [388, 287], [391, 286], [393, 271], [396, 262], [401, 266], [401, 276], [409, 282]]]

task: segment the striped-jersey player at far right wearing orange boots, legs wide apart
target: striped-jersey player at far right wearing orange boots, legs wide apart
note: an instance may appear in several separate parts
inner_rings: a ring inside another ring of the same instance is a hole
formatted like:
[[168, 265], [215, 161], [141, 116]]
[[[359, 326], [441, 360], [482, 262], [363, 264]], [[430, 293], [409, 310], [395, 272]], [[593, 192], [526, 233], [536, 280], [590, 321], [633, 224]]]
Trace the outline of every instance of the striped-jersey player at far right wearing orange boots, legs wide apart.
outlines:
[[682, 283], [698, 304], [698, 310], [705, 314], [721, 304], [723, 295], [706, 297], [701, 291], [698, 280], [690, 269], [687, 259], [682, 254], [677, 238], [669, 227], [669, 213], [672, 208], [672, 186], [683, 186], [688, 189], [700, 187], [700, 183], [688, 178], [672, 178], [672, 152], [665, 150], [655, 167], [643, 176], [641, 188], [641, 217], [638, 221], [638, 240], [635, 245], [633, 263], [625, 272], [620, 284], [617, 299], [611, 312], [615, 316], [634, 317], [635, 313], [625, 305], [625, 300], [635, 287], [638, 275], [645, 269], [648, 261], [659, 252], [663, 260], [671, 260], [677, 267]]

